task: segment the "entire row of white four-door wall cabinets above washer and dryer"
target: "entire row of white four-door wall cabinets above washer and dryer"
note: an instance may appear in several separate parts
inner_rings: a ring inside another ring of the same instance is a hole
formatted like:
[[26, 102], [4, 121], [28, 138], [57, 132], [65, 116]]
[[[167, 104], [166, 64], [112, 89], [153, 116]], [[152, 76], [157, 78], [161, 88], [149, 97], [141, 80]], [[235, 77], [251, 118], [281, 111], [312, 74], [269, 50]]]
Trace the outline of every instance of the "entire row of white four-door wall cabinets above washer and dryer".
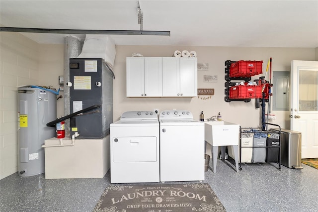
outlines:
[[127, 97], [196, 97], [197, 58], [127, 57]]

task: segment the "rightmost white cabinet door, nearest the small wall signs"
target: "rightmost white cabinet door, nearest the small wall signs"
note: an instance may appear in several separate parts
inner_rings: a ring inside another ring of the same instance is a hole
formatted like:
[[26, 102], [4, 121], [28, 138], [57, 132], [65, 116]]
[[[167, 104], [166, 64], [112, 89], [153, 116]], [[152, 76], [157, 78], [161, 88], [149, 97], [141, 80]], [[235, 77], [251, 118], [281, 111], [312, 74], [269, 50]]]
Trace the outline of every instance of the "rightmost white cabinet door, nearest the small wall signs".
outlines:
[[180, 58], [180, 96], [196, 97], [198, 90], [198, 62], [196, 57]]

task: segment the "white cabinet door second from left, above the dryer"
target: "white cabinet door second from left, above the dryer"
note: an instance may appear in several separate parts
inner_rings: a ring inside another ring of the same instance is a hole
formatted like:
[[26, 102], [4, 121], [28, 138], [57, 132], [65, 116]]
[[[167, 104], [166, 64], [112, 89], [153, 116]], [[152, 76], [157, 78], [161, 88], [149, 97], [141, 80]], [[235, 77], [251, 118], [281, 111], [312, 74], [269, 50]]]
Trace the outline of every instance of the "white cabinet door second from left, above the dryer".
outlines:
[[162, 58], [145, 57], [145, 97], [162, 96]]

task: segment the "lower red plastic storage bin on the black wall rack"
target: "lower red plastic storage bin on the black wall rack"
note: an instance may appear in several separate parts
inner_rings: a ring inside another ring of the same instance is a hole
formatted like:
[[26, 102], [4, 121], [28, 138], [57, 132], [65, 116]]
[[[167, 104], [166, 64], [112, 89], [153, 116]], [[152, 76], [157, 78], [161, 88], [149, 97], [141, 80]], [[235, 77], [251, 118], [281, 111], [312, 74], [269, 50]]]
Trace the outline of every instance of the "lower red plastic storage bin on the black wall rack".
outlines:
[[255, 99], [262, 97], [261, 86], [233, 86], [230, 88], [230, 99]]

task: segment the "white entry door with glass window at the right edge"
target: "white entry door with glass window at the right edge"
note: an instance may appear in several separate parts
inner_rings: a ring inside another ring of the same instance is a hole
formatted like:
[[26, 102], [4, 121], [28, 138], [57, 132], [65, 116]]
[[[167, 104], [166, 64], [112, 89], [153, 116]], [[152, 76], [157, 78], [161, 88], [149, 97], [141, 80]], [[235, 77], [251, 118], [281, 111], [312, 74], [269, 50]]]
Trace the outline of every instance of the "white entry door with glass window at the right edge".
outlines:
[[302, 158], [318, 157], [318, 61], [291, 62], [291, 130], [302, 133]]

